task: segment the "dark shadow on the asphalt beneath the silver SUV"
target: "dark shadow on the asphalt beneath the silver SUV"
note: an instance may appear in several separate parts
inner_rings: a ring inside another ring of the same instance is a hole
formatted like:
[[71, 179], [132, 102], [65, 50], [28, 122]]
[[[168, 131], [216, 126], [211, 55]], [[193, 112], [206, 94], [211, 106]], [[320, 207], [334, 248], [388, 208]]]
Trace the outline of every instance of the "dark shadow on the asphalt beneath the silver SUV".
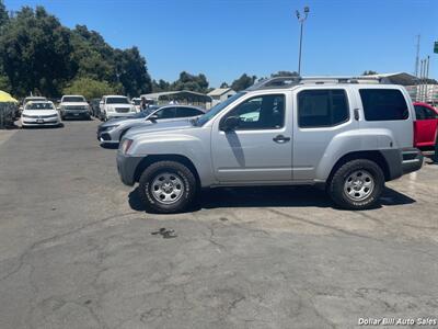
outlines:
[[[376, 208], [412, 204], [416, 201], [390, 188], [383, 191]], [[129, 193], [129, 205], [134, 211], [145, 212], [138, 188]], [[251, 186], [204, 190], [198, 202], [187, 212], [221, 207], [333, 207], [328, 195], [313, 186]]]

